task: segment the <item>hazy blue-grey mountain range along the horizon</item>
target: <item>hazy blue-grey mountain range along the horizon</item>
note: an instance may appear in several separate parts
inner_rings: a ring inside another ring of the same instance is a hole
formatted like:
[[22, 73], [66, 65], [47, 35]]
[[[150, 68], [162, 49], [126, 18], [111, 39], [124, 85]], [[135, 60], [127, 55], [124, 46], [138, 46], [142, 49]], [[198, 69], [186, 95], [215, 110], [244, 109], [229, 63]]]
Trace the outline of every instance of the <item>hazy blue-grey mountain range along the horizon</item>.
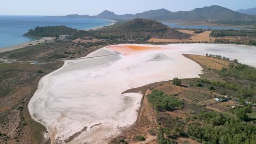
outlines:
[[158, 21], [179, 20], [179, 21], [206, 21], [206, 20], [256, 20], [255, 16], [242, 14], [228, 8], [212, 5], [210, 7], [196, 8], [190, 11], [168, 11], [166, 9], [157, 9], [144, 11], [135, 15], [125, 14], [117, 15], [112, 11], [104, 10], [102, 13], [94, 16], [89, 15], [67, 15], [54, 17], [69, 18], [87, 18], [87, 19], [150, 19]]

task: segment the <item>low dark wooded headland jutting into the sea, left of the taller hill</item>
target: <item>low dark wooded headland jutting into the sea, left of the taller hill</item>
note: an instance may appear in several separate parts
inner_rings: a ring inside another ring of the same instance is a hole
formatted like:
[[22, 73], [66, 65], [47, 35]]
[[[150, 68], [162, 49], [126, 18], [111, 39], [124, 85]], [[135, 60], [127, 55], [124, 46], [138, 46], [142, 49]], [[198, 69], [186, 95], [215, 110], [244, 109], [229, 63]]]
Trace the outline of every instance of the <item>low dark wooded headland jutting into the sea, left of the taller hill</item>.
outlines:
[[57, 37], [63, 34], [75, 34], [77, 29], [73, 29], [66, 26], [46, 26], [46, 27], [36, 27], [34, 29], [28, 30], [25, 36], [33, 37]]

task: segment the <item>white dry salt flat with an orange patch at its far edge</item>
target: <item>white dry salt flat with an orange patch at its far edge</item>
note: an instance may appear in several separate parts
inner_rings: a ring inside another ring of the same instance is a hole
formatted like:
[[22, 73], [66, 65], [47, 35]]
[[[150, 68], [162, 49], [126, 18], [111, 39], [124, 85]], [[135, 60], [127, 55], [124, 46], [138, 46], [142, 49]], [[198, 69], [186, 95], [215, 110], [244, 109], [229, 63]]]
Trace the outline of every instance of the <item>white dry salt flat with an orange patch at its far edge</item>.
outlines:
[[28, 109], [47, 128], [52, 143], [107, 143], [137, 119], [142, 94], [121, 94], [126, 89], [174, 77], [199, 77], [200, 65], [182, 53], [223, 55], [256, 67], [252, 46], [108, 46], [65, 61], [62, 68], [40, 79]]

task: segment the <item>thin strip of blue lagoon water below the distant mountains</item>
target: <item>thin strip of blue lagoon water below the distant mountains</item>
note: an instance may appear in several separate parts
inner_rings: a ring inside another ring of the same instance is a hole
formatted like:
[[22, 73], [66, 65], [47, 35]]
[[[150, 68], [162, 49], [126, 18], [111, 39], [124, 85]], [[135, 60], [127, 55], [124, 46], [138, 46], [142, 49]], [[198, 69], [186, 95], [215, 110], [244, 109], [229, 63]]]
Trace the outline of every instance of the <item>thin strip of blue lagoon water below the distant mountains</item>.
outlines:
[[222, 26], [206, 26], [206, 25], [181, 25], [179, 23], [168, 23], [163, 22], [164, 25], [169, 26], [171, 28], [196, 28], [196, 29], [235, 29], [235, 30], [241, 30], [241, 29], [248, 29], [246, 27], [222, 27]]

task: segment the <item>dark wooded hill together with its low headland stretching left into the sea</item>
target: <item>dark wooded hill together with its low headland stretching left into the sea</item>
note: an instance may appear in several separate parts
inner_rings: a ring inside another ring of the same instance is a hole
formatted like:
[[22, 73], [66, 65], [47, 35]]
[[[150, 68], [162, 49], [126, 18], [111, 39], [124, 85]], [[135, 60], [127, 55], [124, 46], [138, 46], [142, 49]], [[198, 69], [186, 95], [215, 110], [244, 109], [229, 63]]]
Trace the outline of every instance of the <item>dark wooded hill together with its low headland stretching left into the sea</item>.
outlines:
[[160, 39], [188, 39], [191, 34], [178, 32], [158, 21], [147, 19], [134, 19], [122, 24], [116, 24], [102, 29], [90, 31], [77, 31], [65, 26], [47, 26], [30, 29], [24, 35], [34, 37], [56, 37], [61, 34], [70, 34], [77, 38], [94, 37], [97, 39], [126, 39], [147, 40], [150, 38]]

